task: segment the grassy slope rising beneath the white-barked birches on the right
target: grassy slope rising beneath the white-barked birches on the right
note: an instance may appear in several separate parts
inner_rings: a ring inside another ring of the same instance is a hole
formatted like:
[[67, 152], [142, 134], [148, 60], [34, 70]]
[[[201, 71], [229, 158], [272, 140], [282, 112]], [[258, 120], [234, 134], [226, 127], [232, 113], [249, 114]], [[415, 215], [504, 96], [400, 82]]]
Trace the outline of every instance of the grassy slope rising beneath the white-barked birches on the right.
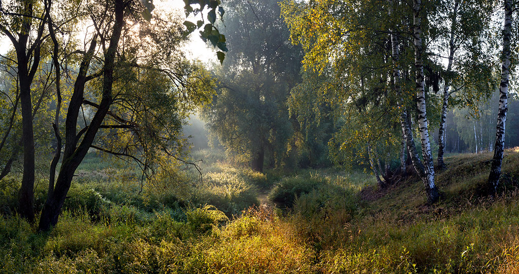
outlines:
[[436, 184], [440, 202], [426, 205], [421, 182], [361, 192], [363, 213], [345, 227], [337, 249], [326, 255], [325, 272], [503, 272], [519, 271], [519, 153], [503, 162], [503, 188], [496, 201], [479, 189], [489, 172], [490, 153], [446, 159]]

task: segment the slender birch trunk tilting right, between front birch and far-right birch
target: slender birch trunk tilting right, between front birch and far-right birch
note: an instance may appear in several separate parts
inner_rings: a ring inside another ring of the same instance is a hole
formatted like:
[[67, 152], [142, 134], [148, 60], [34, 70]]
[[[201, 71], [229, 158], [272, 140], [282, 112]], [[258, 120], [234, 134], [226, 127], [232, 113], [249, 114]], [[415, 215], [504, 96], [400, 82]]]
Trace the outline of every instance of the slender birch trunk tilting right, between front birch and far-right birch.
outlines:
[[[459, 6], [459, 0], [456, 1], [454, 4], [454, 12], [453, 12], [453, 19], [452, 23], [450, 24], [450, 40], [449, 40], [449, 61], [447, 64], [447, 72], [450, 72], [453, 67], [453, 60], [454, 60], [454, 51], [455, 51], [455, 45], [454, 45], [454, 32], [456, 31], [456, 19], [458, 16], [458, 6]], [[438, 166], [440, 169], [444, 169], [447, 166], [445, 165], [445, 162], [443, 161], [443, 154], [445, 153], [445, 121], [447, 120], [447, 111], [448, 111], [448, 100], [449, 100], [449, 83], [447, 80], [445, 80], [445, 86], [443, 87], [443, 103], [442, 103], [442, 116], [440, 118], [440, 127], [438, 131]]]

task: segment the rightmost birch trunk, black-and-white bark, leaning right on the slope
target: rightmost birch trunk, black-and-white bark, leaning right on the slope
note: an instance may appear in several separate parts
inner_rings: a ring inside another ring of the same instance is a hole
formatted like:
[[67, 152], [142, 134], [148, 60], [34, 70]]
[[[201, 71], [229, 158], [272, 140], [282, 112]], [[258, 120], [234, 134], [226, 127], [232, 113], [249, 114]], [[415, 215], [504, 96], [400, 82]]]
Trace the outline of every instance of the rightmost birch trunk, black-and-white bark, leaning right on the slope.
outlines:
[[504, 127], [507, 121], [508, 85], [510, 67], [510, 40], [512, 32], [512, 0], [504, 0], [503, 53], [501, 55], [501, 84], [499, 85], [499, 111], [497, 113], [496, 145], [486, 192], [494, 195], [499, 185], [504, 150]]

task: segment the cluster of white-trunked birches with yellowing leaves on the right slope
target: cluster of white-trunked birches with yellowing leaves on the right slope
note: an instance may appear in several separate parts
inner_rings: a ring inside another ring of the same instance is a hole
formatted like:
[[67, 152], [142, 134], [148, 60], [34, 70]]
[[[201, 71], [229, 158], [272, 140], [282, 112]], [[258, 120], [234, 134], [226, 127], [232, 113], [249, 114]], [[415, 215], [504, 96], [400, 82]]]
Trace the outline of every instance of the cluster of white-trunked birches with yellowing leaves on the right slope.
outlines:
[[[485, 0], [283, 1], [281, 14], [291, 41], [304, 50], [305, 73], [326, 79], [312, 92], [320, 98], [315, 106], [333, 106], [329, 114], [338, 130], [329, 142], [331, 158], [369, 163], [380, 187], [398, 182], [412, 166], [432, 203], [440, 197], [435, 173], [448, 168], [446, 149], [493, 151], [483, 188], [495, 193], [503, 140], [509, 136], [509, 146], [517, 140], [513, 129], [505, 130], [507, 110], [515, 113], [507, 108], [507, 98], [516, 105], [509, 89], [515, 5]], [[293, 89], [291, 96], [303, 94]], [[320, 108], [289, 107], [306, 117], [321, 115]]]

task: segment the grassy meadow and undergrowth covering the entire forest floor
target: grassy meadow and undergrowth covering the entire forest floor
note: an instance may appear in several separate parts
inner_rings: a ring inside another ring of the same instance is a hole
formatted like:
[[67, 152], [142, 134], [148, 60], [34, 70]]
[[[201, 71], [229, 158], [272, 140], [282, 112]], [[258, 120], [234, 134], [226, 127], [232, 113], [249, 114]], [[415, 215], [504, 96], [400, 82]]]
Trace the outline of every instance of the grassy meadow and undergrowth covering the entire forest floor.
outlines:
[[[517, 149], [495, 200], [479, 193], [490, 153], [449, 156], [434, 205], [413, 176], [381, 190], [363, 171], [262, 174], [214, 151], [193, 157], [204, 159], [202, 180], [186, 171], [161, 186], [88, 155], [49, 233], [12, 214], [19, 183], [4, 178], [0, 272], [519, 272]], [[37, 210], [45, 195], [42, 180]]]

